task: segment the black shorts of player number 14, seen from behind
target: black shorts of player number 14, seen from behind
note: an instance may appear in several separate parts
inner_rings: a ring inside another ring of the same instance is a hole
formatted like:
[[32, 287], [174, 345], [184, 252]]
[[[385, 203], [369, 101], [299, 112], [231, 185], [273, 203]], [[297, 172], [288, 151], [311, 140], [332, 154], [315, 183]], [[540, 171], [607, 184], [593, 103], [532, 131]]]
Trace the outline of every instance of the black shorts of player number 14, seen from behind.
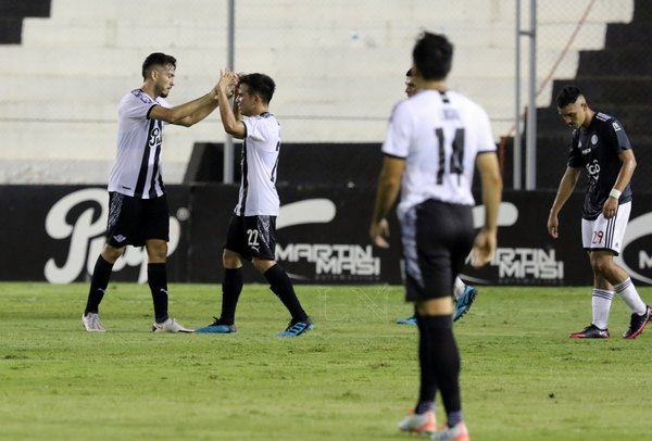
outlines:
[[405, 299], [451, 295], [475, 238], [471, 206], [427, 200], [401, 217]]

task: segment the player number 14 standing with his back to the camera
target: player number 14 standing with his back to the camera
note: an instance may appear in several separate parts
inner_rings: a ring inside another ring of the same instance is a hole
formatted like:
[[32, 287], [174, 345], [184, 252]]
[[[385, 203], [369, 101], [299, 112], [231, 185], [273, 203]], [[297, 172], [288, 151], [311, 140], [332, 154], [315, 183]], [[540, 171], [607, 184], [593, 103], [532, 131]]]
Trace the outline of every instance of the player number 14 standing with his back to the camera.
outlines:
[[[397, 207], [405, 260], [405, 298], [418, 328], [421, 387], [414, 412], [399, 429], [432, 439], [468, 440], [460, 394], [460, 352], [453, 336], [455, 277], [471, 253], [481, 266], [496, 251], [502, 179], [486, 112], [448, 89], [453, 47], [443, 35], [424, 33], [412, 52], [419, 90], [393, 109], [383, 143], [383, 167], [369, 237], [389, 247], [387, 214]], [[485, 226], [476, 235], [472, 182], [478, 168]], [[435, 398], [441, 393], [446, 428], [437, 431]]]

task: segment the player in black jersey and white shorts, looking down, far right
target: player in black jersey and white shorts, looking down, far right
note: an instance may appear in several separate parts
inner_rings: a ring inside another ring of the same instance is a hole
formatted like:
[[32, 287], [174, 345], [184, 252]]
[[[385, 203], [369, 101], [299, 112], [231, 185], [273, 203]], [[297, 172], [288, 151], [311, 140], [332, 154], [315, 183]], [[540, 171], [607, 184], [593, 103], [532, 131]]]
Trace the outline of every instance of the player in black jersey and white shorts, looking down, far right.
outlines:
[[588, 181], [581, 210], [581, 236], [593, 269], [591, 324], [569, 337], [609, 338], [609, 312], [615, 291], [631, 311], [629, 329], [623, 338], [635, 339], [650, 320], [650, 306], [641, 300], [627, 272], [614, 262], [631, 211], [629, 181], [636, 168], [631, 144], [623, 125], [610, 115], [591, 110], [579, 88], [563, 88], [556, 97], [556, 105], [564, 123], [574, 131], [566, 172], [550, 209], [548, 231], [553, 238], [559, 237], [557, 215], [585, 168]]

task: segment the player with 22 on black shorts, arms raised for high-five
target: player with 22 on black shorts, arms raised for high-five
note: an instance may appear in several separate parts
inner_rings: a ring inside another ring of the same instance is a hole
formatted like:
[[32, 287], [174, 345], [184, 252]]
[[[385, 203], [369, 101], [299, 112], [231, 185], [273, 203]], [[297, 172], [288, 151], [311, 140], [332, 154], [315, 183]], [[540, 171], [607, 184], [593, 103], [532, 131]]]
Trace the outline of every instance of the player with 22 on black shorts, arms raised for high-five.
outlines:
[[[229, 90], [236, 88], [235, 109]], [[220, 115], [227, 134], [242, 139], [241, 182], [222, 254], [222, 314], [198, 332], [236, 331], [236, 306], [242, 291], [242, 261], [251, 261], [269, 282], [272, 291], [289, 311], [291, 319], [280, 337], [297, 337], [313, 328], [292, 282], [276, 263], [276, 217], [280, 203], [276, 172], [280, 150], [280, 125], [269, 113], [276, 85], [264, 74], [236, 75], [228, 70], [217, 84]], [[241, 119], [240, 116], [247, 116]]]

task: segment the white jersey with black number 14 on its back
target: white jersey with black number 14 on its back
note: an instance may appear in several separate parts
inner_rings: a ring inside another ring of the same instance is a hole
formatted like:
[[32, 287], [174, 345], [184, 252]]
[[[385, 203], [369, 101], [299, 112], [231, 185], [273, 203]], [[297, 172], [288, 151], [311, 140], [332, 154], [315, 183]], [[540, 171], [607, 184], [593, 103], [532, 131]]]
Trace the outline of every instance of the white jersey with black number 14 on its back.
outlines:
[[422, 90], [397, 104], [383, 152], [405, 159], [399, 213], [428, 199], [475, 204], [475, 160], [488, 151], [496, 151], [489, 117], [465, 96]]

